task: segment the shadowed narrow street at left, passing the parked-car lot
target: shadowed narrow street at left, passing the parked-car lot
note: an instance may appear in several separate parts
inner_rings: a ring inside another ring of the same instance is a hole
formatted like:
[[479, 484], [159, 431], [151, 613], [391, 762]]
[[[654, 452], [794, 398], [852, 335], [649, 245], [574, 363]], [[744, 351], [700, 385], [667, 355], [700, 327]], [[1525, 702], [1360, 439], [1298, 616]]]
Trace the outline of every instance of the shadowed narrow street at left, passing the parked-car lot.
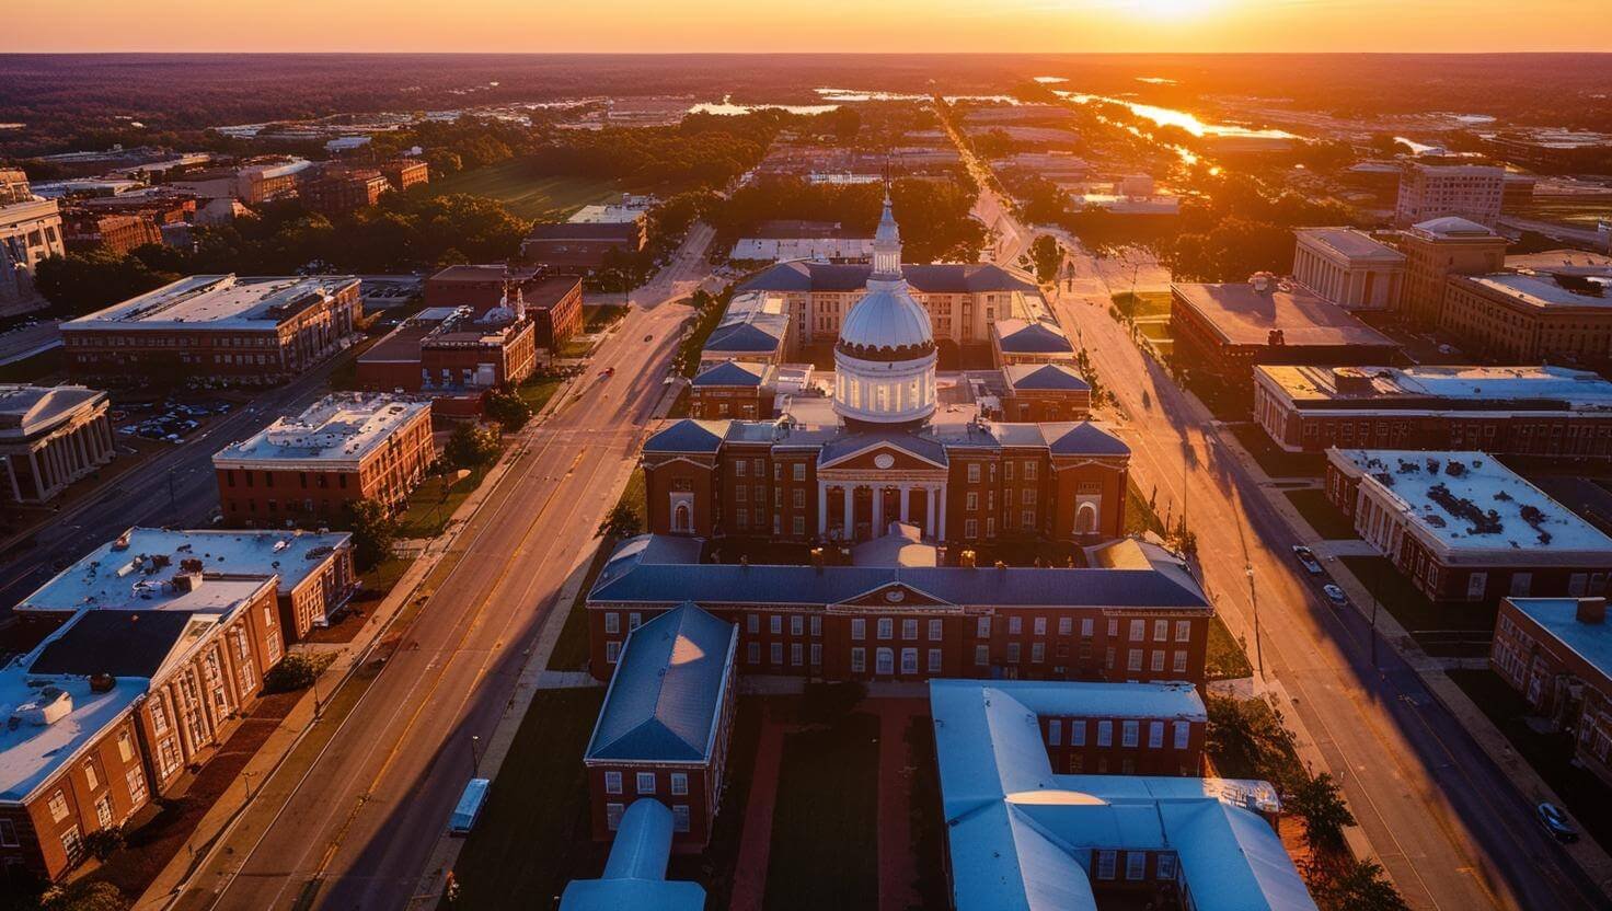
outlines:
[[[351, 356], [351, 352], [343, 352], [293, 382], [271, 389], [250, 405], [213, 419], [171, 450], [114, 479], [100, 495], [56, 516], [31, 542], [0, 555], [3, 611], [10, 613], [13, 605], [64, 566], [131, 526], [205, 527], [218, 508], [213, 453], [258, 432], [280, 414], [306, 408], [326, 393], [330, 372]], [[123, 440], [121, 435], [114, 437]]]

